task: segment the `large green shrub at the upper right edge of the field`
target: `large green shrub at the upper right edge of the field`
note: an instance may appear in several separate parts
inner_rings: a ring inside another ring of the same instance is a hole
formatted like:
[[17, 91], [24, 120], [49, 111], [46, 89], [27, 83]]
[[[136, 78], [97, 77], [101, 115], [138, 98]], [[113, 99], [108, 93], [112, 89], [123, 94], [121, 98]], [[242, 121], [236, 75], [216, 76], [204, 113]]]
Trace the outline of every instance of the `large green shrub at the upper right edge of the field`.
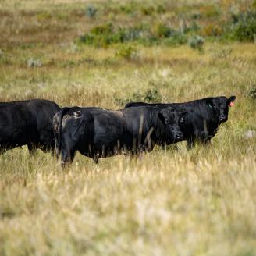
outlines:
[[231, 38], [238, 41], [256, 40], [256, 11], [247, 11], [232, 16]]

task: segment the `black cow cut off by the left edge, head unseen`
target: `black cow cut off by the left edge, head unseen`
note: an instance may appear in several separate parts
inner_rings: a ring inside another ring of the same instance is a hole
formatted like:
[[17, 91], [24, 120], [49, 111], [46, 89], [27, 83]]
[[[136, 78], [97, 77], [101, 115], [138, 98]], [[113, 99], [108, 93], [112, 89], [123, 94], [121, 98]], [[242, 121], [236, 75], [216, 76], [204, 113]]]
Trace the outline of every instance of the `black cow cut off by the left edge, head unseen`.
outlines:
[[0, 103], [0, 152], [27, 145], [30, 153], [40, 148], [54, 152], [52, 119], [59, 106], [34, 99]]

